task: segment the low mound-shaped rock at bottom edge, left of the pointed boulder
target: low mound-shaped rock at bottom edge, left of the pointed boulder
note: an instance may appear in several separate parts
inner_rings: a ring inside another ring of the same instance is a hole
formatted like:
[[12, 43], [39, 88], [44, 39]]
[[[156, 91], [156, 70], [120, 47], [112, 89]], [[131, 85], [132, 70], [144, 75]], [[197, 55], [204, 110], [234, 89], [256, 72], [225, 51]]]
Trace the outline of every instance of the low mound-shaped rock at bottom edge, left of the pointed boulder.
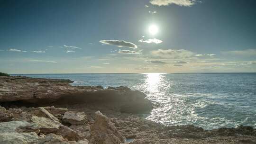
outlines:
[[61, 135], [49, 134], [45, 138], [42, 138], [37, 144], [76, 144], [74, 141], [69, 142]]

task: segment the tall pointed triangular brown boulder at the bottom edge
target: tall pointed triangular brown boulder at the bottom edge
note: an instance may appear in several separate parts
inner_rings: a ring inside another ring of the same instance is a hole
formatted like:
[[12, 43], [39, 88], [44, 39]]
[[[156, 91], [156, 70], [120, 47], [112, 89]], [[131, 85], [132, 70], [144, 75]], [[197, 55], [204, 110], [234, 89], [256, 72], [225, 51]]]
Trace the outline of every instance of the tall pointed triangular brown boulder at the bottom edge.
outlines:
[[90, 143], [92, 144], [120, 144], [124, 142], [110, 118], [95, 112], [95, 122], [91, 125]]

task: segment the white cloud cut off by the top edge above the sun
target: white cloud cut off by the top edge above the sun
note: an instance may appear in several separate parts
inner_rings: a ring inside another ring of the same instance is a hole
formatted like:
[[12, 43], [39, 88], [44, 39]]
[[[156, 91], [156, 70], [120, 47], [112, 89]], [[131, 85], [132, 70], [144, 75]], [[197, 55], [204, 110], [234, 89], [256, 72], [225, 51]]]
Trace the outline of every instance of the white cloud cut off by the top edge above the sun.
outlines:
[[157, 6], [168, 6], [171, 4], [176, 4], [179, 6], [184, 6], [184, 7], [190, 7], [193, 4], [195, 4], [196, 0], [150, 0], [149, 2], [152, 5], [157, 5]]

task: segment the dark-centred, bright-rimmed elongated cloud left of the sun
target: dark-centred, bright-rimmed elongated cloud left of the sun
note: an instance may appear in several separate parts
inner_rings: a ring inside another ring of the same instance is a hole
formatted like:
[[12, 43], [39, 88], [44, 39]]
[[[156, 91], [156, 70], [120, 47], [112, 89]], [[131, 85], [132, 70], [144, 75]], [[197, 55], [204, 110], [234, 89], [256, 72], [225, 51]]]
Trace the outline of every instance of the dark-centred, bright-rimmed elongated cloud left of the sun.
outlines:
[[124, 40], [101, 40], [100, 43], [105, 45], [116, 45], [118, 47], [137, 48], [137, 45], [131, 42], [126, 42]]

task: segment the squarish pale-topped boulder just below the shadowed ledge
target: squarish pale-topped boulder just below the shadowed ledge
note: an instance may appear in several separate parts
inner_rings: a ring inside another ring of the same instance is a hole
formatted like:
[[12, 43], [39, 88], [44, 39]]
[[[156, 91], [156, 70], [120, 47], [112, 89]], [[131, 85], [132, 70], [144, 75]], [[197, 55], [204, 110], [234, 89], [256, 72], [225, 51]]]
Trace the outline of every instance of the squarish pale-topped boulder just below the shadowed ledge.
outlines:
[[65, 112], [62, 117], [64, 123], [69, 123], [71, 125], [83, 125], [87, 122], [87, 117], [84, 112]]

